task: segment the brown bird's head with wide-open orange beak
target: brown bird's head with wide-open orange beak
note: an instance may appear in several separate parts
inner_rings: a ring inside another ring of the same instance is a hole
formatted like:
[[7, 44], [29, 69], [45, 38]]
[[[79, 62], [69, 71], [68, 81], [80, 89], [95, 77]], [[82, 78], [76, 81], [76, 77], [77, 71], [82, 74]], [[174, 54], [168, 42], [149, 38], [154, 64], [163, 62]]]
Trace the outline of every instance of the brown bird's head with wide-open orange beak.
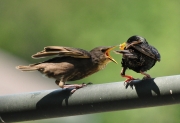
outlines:
[[113, 50], [116, 46], [112, 47], [96, 47], [90, 51], [92, 57], [95, 60], [98, 60], [101, 63], [109, 63], [110, 61], [118, 64], [115, 59], [110, 55], [110, 51]]

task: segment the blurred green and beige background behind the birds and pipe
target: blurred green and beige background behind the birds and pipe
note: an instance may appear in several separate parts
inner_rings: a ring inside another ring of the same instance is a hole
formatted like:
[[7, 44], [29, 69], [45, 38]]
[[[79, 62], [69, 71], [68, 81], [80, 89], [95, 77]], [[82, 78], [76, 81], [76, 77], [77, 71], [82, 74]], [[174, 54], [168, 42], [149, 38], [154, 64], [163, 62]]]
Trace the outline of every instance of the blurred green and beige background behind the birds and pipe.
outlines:
[[[161, 53], [161, 62], [148, 71], [152, 77], [180, 73], [180, 1], [159, 0], [1, 0], [0, 95], [58, 88], [38, 72], [20, 72], [17, 65], [39, 62], [31, 55], [44, 46], [61, 45], [91, 50], [113, 46], [132, 35], [147, 39]], [[123, 81], [119, 64], [74, 83]], [[42, 59], [41, 59], [42, 60]], [[135, 78], [142, 75], [128, 70]], [[180, 105], [27, 121], [26, 123], [179, 123]]]

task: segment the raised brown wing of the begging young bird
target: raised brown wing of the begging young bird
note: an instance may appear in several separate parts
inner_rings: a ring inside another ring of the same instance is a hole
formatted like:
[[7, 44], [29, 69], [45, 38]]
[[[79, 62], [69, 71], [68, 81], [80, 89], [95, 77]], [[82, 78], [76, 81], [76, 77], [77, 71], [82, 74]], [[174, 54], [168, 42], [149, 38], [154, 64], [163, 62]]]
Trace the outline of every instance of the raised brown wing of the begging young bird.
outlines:
[[70, 56], [75, 58], [90, 58], [90, 53], [83, 49], [63, 47], [63, 46], [47, 46], [44, 47], [43, 51], [40, 51], [34, 55], [32, 58], [43, 58], [47, 56], [58, 55], [60, 57]]

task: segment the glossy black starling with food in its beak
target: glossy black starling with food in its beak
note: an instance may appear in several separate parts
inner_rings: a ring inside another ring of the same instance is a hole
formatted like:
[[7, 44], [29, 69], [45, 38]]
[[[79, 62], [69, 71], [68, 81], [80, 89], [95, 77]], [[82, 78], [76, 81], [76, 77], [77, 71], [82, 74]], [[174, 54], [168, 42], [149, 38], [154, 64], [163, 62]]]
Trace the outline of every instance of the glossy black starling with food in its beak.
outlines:
[[144, 79], [151, 78], [146, 71], [150, 70], [156, 64], [156, 61], [160, 61], [158, 50], [149, 45], [145, 38], [137, 35], [130, 37], [125, 43], [120, 45], [120, 51], [115, 52], [123, 56], [121, 76], [127, 78], [125, 82], [134, 80], [132, 76], [125, 74], [126, 69], [129, 68], [143, 74]]

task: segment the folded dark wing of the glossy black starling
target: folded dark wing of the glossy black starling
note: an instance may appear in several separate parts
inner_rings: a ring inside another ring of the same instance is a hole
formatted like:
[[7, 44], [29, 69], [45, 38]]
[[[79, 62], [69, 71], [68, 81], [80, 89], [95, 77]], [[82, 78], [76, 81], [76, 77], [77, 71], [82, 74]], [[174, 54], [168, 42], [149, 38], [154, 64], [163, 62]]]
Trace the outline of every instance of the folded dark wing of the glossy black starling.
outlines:
[[145, 44], [145, 43], [132, 45], [132, 47], [135, 48], [136, 50], [138, 50], [139, 52], [141, 52], [157, 61], [160, 61], [161, 56], [155, 47], [153, 47], [149, 44]]

